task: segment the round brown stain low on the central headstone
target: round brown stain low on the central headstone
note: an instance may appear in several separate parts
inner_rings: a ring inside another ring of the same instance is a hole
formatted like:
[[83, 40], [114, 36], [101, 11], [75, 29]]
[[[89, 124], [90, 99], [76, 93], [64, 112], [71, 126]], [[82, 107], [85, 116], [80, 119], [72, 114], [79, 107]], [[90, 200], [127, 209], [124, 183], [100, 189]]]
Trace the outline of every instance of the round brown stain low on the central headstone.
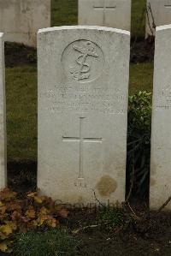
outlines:
[[109, 196], [111, 193], [115, 193], [117, 188], [117, 182], [110, 176], [103, 176], [97, 183], [97, 190], [101, 196]]

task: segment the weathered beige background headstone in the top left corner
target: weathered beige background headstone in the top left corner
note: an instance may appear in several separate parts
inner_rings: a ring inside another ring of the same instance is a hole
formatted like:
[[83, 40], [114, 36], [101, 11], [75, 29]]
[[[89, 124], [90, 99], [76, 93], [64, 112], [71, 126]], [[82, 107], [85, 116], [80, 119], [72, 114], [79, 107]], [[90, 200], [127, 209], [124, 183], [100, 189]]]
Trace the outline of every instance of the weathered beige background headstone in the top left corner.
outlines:
[[39, 28], [50, 27], [50, 0], [0, 0], [5, 40], [36, 46]]

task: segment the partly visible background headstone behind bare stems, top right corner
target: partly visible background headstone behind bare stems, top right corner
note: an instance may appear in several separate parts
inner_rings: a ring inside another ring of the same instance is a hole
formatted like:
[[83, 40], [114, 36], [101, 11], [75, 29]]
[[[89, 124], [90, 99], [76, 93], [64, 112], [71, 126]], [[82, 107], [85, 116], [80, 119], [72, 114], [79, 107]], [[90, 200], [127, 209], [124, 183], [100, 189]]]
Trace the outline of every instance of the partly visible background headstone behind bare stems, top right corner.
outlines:
[[156, 27], [171, 24], [171, 0], [147, 0], [146, 38], [155, 35]]

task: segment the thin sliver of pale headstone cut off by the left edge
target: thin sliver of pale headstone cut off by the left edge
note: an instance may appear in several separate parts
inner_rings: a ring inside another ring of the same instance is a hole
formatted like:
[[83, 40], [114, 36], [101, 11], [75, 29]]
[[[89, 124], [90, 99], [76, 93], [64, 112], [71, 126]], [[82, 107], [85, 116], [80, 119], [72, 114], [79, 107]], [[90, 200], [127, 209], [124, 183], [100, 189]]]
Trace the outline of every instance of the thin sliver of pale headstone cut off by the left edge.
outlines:
[[2, 189], [7, 182], [3, 33], [0, 33], [0, 99], [0, 189]]

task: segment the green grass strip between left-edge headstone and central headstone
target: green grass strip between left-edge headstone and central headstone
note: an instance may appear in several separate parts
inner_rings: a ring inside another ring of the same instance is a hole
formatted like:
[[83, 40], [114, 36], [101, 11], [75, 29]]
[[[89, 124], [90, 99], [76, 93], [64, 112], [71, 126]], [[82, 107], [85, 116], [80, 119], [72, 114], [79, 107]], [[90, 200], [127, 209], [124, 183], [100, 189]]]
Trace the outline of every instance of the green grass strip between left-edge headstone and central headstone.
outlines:
[[37, 68], [6, 68], [9, 162], [37, 159]]

